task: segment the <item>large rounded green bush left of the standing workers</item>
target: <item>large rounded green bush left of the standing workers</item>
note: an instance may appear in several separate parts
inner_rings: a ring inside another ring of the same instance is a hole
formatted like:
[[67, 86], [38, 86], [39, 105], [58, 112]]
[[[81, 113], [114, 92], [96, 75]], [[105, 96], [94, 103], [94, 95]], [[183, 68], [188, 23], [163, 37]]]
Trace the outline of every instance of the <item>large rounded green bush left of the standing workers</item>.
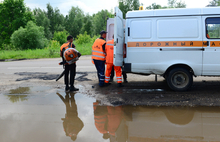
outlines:
[[44, 28], [29, 21], [25, 28], [20, 27], [11, 36], [11, 43], [17, 49], [43, 48], [45, 44]]

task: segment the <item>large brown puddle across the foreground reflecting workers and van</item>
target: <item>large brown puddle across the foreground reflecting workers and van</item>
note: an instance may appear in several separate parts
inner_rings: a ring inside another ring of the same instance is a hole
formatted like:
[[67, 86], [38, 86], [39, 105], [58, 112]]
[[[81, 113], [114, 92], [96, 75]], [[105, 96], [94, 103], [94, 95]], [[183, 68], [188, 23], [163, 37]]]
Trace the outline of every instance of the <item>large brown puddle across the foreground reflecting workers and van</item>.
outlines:
[[[84, 94], [46, 86], [10, 93], [0, 96], [2, 142], [220, 141], [220, 107], [103, 106]], [[12, 103], [10, 95], [19, 101]]]

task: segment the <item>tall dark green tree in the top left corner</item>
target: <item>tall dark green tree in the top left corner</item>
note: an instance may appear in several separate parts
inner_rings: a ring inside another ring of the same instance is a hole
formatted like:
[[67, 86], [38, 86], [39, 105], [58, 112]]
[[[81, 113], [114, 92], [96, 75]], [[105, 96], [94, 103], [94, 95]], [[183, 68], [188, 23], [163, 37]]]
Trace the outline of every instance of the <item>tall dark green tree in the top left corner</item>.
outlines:
[[24, 0], [4, 0], [0, 4], [0, 46], [9, 44], [12, 33], [30, 20], [34, 16], [25, 7]]

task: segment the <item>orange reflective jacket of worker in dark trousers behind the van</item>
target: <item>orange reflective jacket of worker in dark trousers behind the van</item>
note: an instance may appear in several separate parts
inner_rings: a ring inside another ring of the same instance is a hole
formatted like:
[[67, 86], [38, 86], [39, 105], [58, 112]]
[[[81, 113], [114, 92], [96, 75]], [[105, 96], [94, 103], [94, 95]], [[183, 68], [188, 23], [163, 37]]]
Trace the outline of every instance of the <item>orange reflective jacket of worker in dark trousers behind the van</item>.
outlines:
[[102, 45], [105, 44], [105, 40], [96, 39], [92, 46], [92, 59], [105, 61], [105, 52]]

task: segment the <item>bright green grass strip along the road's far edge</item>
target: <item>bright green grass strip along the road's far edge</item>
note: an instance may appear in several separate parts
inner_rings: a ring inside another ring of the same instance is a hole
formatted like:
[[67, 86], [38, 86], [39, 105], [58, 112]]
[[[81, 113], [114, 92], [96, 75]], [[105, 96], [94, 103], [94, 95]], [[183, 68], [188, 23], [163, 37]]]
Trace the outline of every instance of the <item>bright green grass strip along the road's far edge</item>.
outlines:
[[[76, 49], [82, 55], [91, 55], [92, 43], [77, 44]], [[38, 58], [59, 58], [60, 57], [60, 46], [46, 47], [44, 49], [34, 50], [0, 50], [0, 59], [38, 59]]]

